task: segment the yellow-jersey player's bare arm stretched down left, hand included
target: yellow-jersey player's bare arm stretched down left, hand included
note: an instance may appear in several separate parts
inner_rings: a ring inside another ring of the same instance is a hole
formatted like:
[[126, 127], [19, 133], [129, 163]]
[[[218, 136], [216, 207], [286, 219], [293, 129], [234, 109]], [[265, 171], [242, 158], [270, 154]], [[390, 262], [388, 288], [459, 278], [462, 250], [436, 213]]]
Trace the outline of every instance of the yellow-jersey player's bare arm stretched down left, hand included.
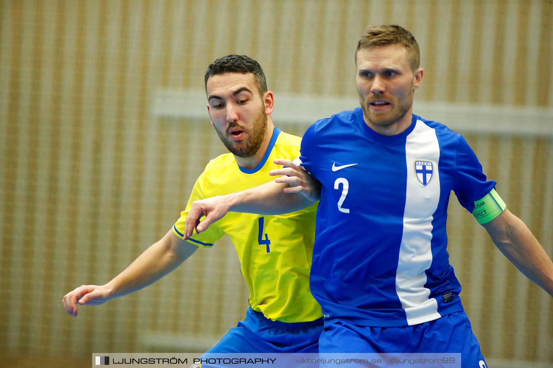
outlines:
[[169, 230], [160, 241], [144, 250], [126, 269], [105, 285], [82, 285], [62, 299], [65, 311], [77, 317], [77, 304], [100, 305], [161, 279], [195, 252], [194, 244], [182, 241]]

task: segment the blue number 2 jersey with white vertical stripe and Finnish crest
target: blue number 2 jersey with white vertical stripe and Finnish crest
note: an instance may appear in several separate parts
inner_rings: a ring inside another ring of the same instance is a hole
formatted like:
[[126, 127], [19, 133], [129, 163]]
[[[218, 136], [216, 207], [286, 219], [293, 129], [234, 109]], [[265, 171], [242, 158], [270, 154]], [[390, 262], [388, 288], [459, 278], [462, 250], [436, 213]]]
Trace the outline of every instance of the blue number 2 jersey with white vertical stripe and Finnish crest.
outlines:
[[311, 125], [300, 161], [322, 184], [310, 285], [326, 322], [408, 326], [462, 311], [450, 192], [472, 212], [495, 182], [460, 134], [413, 115], [383, 136], [357, 108]]

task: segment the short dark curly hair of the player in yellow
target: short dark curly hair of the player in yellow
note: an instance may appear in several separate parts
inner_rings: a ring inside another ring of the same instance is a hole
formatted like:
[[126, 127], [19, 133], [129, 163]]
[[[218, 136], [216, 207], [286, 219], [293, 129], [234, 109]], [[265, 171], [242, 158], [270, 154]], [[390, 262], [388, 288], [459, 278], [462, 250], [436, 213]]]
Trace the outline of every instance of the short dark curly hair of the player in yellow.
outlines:
[[255, 76], [255, 82], [259, 94], [267, 92], [267, 79], [259, 63], [246, 55], [226, 55], [213, 61], [206, 70], [204, 83], [207, 94], [207, 79], [211, 76], [224, 73], [252, 73]]

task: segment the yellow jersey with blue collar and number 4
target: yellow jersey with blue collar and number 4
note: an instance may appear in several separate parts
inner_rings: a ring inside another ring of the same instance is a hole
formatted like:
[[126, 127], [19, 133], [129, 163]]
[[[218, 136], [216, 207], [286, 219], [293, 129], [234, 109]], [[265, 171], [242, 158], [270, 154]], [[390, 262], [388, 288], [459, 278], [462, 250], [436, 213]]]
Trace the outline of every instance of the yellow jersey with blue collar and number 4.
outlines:
[[[259, 164], [239, 167], [232, 153], [212, 159], [196, 180], [194, 189], [173, 226], [182, 239], [186, 216], [193, 201], [253, 188], [273, 180], [269, 170], [280, 168], [275, 158], [298, 157], [301, 138], [274, 128]], [[249, 305], [265, 317], [281, 322], [308, 322], [322, 317], [321, 306], [309, 289], [309, 271], [315, 241], [317, 204], [278, 216], [228, 212], [206, 231], [192, 234], [188, 242], [211, 248], [223, 234], [231, 238], [249, 288]]]

